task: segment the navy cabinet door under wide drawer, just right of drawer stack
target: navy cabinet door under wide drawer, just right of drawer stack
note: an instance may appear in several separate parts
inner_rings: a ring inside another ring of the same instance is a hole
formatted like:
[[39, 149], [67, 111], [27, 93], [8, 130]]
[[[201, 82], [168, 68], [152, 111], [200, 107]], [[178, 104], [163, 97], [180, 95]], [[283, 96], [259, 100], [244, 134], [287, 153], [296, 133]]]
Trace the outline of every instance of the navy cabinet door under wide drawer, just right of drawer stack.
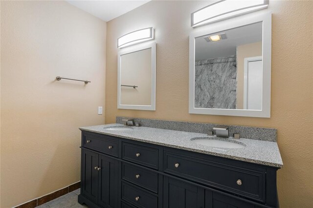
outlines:
[[163, 208], [204, 208], [204, 189], [169, 177], [163, 180]]

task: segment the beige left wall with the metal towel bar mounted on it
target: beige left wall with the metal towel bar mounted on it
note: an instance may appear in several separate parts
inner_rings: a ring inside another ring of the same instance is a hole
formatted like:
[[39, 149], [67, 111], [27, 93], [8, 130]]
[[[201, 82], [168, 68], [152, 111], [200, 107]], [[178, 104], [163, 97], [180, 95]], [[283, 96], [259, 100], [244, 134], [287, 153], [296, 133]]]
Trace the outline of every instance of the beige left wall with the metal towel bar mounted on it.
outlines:
[[0, 207], [10, 208], [80, 180], [78, 127], [105, 121], [106, 22], [66, 1], [0, 9]]

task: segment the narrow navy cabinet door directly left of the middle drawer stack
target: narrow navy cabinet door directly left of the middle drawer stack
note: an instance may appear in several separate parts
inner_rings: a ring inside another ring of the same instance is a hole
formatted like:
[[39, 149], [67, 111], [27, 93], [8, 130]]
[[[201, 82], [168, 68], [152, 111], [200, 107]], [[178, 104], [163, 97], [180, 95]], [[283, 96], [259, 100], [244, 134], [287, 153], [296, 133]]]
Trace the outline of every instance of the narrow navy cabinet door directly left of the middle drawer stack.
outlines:
[[118, 207], [118, 161], [99, 155], [99, 204], [106, 208]]

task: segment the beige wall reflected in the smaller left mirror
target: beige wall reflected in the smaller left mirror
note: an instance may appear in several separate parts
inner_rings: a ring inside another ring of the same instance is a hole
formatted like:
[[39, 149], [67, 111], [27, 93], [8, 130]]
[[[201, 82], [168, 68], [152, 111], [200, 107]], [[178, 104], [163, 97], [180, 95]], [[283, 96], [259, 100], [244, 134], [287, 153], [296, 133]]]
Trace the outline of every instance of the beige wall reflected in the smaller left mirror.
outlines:
[[151, 105], [151, 48], [121, 56], [121, 104]]

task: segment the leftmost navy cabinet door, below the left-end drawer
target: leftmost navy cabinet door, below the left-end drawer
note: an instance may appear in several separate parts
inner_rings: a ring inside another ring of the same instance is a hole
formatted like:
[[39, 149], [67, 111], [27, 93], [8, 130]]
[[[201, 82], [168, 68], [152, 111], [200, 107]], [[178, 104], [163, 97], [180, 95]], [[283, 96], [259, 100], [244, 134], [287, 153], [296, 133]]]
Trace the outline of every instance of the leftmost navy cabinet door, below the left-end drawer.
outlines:
[[82, 194], [93, 202], [98, 201], [98, 166], [99, 155], [82, 149]]

